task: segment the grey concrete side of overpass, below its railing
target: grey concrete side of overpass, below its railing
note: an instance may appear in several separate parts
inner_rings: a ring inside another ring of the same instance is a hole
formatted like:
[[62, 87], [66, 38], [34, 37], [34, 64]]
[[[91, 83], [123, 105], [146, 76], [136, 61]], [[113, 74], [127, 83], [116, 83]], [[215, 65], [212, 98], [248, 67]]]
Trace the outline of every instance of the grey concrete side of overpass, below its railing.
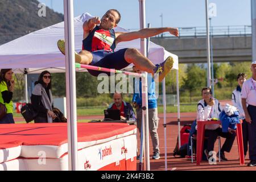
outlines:
[[[152, 42], [179, 56], [179, 63], [207, 63], [205, 36], [151, 38]], [[251, 35], [213, 36], [213, 61], [251, 61]]]

